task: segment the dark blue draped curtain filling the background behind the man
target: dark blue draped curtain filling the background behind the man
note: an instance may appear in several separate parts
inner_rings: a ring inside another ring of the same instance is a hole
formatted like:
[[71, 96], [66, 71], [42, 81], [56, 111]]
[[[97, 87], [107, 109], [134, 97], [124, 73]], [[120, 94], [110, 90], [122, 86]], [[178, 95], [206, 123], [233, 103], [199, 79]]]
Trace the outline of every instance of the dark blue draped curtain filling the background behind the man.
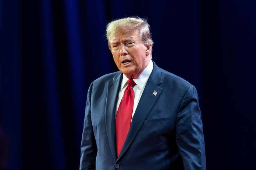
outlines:
[[107, 22], [147, 18], [153, 60], [199, 92], [207, 169], [256, 160], [255, 0], [0, 0], [0, 169], [79, 168], [90, 82], [117, 71]]

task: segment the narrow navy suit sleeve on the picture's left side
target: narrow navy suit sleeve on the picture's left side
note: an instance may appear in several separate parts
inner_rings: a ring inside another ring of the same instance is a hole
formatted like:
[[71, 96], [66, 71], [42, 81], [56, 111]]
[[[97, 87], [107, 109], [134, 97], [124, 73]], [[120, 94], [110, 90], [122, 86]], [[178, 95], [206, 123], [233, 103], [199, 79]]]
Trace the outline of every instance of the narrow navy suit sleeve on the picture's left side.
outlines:
[[80, 158], [80, 170], [95, 170], [95, 161], [97, 155], [97, 146], [95, 136], [93, 133], [93, 126], [91, 120], [91, 91], [92, 84], [89, 87], [86, 107], [85, 107], [85, 119], [83, 123], [83, 134], [81, 142], [81, 158]]

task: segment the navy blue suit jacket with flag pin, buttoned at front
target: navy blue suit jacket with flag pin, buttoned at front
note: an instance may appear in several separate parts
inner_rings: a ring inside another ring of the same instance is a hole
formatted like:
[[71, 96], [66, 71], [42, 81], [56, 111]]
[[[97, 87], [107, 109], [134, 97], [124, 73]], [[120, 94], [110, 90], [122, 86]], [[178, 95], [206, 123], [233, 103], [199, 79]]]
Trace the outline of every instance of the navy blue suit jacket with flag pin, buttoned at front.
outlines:
[[115, 108], [121, 81], [118, 71], [90, 85], [80, 170], [205, 170], [196, 88], [155, 63], [117, 158]]

